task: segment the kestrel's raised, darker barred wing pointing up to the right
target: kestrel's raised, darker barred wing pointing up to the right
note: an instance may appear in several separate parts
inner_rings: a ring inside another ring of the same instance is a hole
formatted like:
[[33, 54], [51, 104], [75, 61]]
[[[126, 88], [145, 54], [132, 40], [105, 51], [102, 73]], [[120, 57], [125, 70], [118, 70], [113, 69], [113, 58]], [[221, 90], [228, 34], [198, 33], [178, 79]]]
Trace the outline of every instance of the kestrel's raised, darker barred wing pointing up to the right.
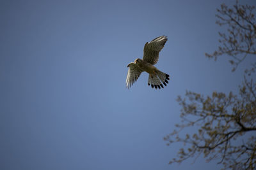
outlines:
[[159, 58], [159, 52], [164, 48], [166, 41], [166, 36], [159, 36], [150, 41], [150, 43], [146, 43], [144, 46], [143, 60], [152, 65], [156, 64]]

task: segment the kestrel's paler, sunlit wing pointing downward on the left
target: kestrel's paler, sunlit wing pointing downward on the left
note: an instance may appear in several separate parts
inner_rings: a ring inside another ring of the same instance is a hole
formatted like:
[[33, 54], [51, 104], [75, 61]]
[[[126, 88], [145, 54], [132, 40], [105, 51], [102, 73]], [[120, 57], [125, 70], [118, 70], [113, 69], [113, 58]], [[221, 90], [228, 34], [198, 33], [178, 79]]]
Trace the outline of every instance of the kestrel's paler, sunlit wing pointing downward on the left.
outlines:
[[134, 62], [128, 64], [129, 70], [126, 78], [126, 87], [129, 89], [143, 72]]

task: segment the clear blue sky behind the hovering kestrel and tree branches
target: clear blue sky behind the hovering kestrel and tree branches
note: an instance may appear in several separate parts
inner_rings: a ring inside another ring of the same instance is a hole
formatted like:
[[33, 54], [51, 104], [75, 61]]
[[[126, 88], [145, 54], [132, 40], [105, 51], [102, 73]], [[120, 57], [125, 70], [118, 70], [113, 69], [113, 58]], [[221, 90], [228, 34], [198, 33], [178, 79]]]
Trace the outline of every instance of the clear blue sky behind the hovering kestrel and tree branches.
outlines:
[[[1, 1], [0, 169], [220, 168], [169, 165], [182, 144], [163, 137], [180, 122], [178, 95], [237, 91], [250, 63], [231, 73], [228, 57], [205, 58], [223, 2], [235, 1]], [[167, 87], [142, 73], [125, 89], [127, 64], [162, 35]]]

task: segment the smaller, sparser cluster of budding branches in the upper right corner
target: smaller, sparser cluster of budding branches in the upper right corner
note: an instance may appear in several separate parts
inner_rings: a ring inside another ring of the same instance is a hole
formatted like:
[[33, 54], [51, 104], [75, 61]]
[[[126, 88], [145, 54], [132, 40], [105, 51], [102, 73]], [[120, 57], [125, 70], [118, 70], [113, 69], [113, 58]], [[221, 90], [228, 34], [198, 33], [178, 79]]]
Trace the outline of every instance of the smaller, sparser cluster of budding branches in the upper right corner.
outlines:
[[206, 57], [215, 60], [220, 55], [226, 54], [232, 57], [230, 64], [234, 67], [241, 63], [248, 54], [256, 55], [256, 20], [255, 6], [241, 5], [236, 1], [232, 8], [221, 4], [217, 9], [216, 24], [227, 25], [227, 32], [219, 32], [220, 46], [213, 54], [205, 53]]

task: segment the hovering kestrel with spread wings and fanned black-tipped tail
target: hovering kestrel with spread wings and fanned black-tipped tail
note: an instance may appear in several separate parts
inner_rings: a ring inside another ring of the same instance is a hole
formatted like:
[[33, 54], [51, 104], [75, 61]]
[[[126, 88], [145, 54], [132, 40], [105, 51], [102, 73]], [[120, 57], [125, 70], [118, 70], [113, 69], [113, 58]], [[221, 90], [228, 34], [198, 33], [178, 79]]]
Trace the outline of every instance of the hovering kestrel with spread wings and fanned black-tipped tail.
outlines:
[[159, 36], [150, 41], [150, 43], [146, 43], [144, 46], [143, 59], [136, 59], [134, 62], [128, 64], [127, 67], [129, 67], [129, 70], [126, 78], [126, 87], [128, 89], [137, 81], [143, 71], [149, 74], [148, 85], [151, 85], [152, 88], [164, 88], [163, 84], [166, 86], [166, 83], [170, 80], [169, 75], [159, 71], [157, 67], [153, 66], [157, 63], [159, 52], [164, 48], [166, 41], [166, 36]]

